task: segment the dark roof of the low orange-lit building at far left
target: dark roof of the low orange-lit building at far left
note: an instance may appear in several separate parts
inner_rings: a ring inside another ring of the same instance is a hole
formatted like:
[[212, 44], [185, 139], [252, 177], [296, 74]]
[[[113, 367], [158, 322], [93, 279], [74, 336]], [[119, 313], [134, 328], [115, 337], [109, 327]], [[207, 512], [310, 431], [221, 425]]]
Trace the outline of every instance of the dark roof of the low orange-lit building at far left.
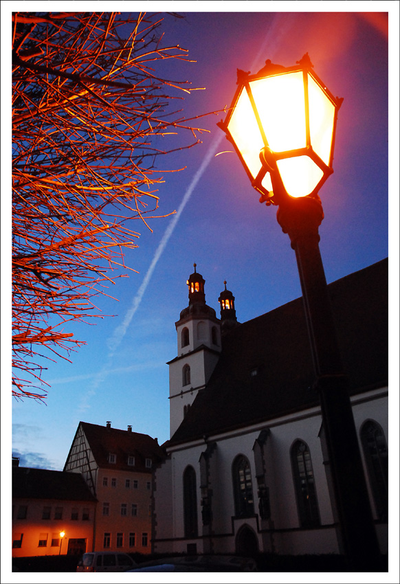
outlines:
[[63, 471], [12, 467], [12, 497], [96, 501], [82, 475]]

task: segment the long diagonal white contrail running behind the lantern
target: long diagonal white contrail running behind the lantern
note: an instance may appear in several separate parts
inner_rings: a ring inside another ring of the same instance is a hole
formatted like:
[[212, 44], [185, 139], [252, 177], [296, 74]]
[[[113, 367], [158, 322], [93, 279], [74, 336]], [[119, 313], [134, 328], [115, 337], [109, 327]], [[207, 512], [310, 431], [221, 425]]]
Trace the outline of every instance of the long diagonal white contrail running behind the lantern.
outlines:
[[[261, 58], [263, 58], [265, 56], [266, 50], [268, 50], [268, 55], [267, 55], [268, 58], [271, 58], [272, 56], [274, 56], [274, 52], [276, 50], [276, 47], [278, 47], [278, 45], [280, 44], [282, 36], [287, 34], [287, 30], [291, 27], [291, 25], [295, 19], [295, 16], [296, 16], [295, 14], [289, 14], [289, 13], [275, 14], [274, 15], [274, 19], [271, 22], [271, 25], [270, 25], [269, 30], [267, 32], [267, 35], [263, 41], [263, 44], [260, 46], [258, 54], [254, 58], [254, 61], [252, 63], [252, 67], [251, 67], [252, 71], [255, 67], [258, 67], [260, 65], [260, 60], [261, 60]], [[272, 42], [271, 42], [271, 39], [272, 39]], [[186, 192], [184, 194], [184, 198], [182, 199], [181, 204], [179, 205], [179, 208], [178, 208], [176, 214], [173, 216], [168, 227], [166, 228], [166, 232], [164, 233], [164, 236], [162, 237], [162, 240], [160, 241], [160, 243], [155, 251], [155, 254], [153, 256], [153, 260], [151, 261], [150, 267], [148, 267], [148, 270], [146, 272], [146, 275], [144, 276], [143, 282], [140, 285], [139, 290], [137, 291], [137, 293], [133, 297], [131, 307], [126, 312], [122, 324], [117, 326], [117, 328], [115, 328], [115, 330], [113, 331], [113, 334], [111, 335], [111, 337], [109, 339], [107, 339], [107, 346], [109, 348], [109, 354], [107, 355], [107, 362], [104, 363], [104, 366], [102, 366], [102, 369], [98, 372], [98, 374], [96, 375], [96, 378], [93, 379], [93, 383], [91, 383], [91, 388], [89, 389], [89, 391], [85, 394], [85, 396], [82, 397], [82, 400], [80, 401], [80, 407], [79, 407], [80, 411], [83, 411], [89, 407], [89, 403], [88, 403], [89, 398], [92, 395], [96, 394], [96, 389], [98, 388], [100, 383], [102, 383], [102, 381], [104, 381], [104, 379], [106, 379], [107, 375], [109, 374], [109, 371], [111, 370], [111, 364], [112, 364], [112, 359], [113, 359], [113, 355], [115, 353], [115, 350], [117, 350], [117, 348], [120, 346], [120, 344], [122, 342], [122, 339], [124, 339], [124, 336], [126, 335], [126, 330], [128, 330], [129, 325], [131, 324], [131, 321], [133, 319], [133, 316], [135, 315], [137, 308], [139, 308], [140, 303], [142, 302], [142, 298], [144, 296], [144, 293], [146, 292], [146, 289], [148, 287], [148, 283], [151, 280], [151, 276], [153, 276], [153, 271], [155, 270], [157, 262], [158, 262], [160, 256], [162, 255], [162, 252], [164, 251], [170, 236], [174, 232], [174, 229], [177, 225], [177, 222], [179, 221], [179, 217], [181, 216], [182, 211], [184, 210], [184, 208], [186, 206], [186, 203], [188, 203], [193, 190], [195, 190], [197, 183], [199, 182], [199, 180], [203, 176], [203, 173], [205, 172], [206, 168], [210, 164], [210, 161], [214, 157], [214, 155], [216, 153], [216, 149], [218, 148], [219, 144], [221, 144], [223, 137], [224, 137], [223, 133], [221, 133], [221, 135], [218, 135], [214, 139], [212, 144], [210, 145], [210, 148], [208, 148], [207, 153], [205, 154], [205, 157], [203, 158], [203, 161], [201, 162], [199, 170], [197, 170], [195, 176], [192, 179], [192, 182], [190, 183], [188, 189], [186, 190]]]

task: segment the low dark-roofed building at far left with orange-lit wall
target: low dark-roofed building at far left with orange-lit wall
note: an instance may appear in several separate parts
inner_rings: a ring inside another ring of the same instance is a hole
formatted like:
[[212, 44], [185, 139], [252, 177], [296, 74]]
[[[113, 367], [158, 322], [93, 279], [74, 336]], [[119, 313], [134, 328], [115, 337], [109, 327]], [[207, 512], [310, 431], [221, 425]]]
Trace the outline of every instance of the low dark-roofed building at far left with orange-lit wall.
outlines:
[[91, 550], [96, 497], [82, 476], [18, 462], [13, 459], [12, 557]]

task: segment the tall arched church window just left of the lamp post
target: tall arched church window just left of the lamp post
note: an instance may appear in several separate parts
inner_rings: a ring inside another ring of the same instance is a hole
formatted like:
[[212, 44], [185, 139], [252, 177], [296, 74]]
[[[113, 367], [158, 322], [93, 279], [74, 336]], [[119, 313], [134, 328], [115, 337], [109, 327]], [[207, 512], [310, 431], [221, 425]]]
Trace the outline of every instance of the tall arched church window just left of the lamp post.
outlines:
[[320, 513], [315, 493], [311, 454], [309, 447], [302, 440], [297, 440], [291, 447], [291, 467], [300, 526], [317, 527], [320, 525]]

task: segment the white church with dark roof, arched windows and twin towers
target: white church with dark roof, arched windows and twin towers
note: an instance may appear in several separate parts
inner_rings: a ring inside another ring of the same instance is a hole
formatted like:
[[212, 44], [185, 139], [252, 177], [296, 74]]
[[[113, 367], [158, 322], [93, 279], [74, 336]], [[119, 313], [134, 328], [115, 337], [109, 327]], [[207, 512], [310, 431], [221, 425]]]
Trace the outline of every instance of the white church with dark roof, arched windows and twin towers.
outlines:
[[[337, 554], [302, 298], [239, 323], [188, 281], [168, 362], [170, 439], [155, 469], [153, 552]], [[370, 505], [388, 551], [388, 259], [329, 284]]]

